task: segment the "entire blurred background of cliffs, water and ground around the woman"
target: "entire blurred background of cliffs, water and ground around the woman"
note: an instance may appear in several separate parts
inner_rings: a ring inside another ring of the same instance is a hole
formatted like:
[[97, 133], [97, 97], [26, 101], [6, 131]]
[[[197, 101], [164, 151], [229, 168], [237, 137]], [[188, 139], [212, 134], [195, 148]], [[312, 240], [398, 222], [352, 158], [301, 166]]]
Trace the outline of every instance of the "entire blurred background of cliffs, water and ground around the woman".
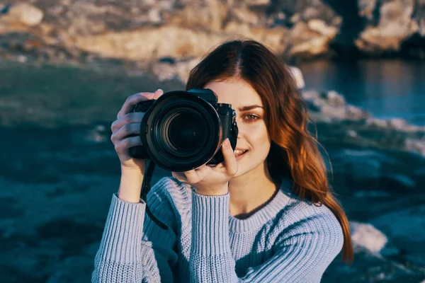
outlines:
[[1, 282], [89, 282], [125, 98], [237, 37], [294, 67], [329, 154], [356, 253], [322, 282], [424, 282], [424, 0], [0, 0]]

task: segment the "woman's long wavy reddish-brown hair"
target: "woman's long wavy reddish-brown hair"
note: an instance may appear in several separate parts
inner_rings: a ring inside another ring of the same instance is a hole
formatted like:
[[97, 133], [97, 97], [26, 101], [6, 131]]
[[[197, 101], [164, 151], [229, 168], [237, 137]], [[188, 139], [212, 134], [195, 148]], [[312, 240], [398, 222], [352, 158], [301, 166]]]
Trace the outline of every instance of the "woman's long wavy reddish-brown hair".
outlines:
[[271, 138], [267, 166], [273, 178], [286, 175], [302, 200], [331, 209], [344, 231], [343, 260], [352, 262], [348, 219], [331, 192], [317, 139], [307, 129], [309, 115], [290, 69], [268, 47], [254, 40], [228, 40], [191, 70], [186, 90], [210, 81], [242, 79], [259, 93]]

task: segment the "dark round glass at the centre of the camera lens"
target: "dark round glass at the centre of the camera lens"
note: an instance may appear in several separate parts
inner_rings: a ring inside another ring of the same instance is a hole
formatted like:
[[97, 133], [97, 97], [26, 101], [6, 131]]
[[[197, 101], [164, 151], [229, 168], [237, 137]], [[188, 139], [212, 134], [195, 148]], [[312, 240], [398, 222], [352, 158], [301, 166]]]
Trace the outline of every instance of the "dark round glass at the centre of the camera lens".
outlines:
[[183, 109], [171, 115], [165, 124], [168, 133], [166, 138], [175, 150], [192, 151], [202, 144], [205, 125], [199, 113]]

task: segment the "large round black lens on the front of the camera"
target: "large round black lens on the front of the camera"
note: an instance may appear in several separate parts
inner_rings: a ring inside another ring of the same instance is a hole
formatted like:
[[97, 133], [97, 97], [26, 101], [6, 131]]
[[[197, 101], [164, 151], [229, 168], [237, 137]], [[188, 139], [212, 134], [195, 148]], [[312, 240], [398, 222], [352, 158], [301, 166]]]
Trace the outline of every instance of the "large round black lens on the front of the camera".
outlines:
[[220, 117], [207, 101], [191, 93], [168, 93], [142, 121], [142, 143], [152, 161], [175, 172], [207, 163], [220, 149]]

